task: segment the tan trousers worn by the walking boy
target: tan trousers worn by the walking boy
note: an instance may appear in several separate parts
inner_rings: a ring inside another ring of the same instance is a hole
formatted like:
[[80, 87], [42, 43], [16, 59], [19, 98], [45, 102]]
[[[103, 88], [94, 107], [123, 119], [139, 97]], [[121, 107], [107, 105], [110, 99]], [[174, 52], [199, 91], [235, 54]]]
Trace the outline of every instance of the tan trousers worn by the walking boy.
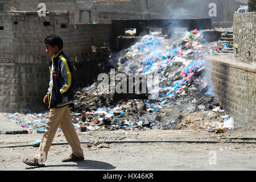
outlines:
[[49, 117], [46, 123], [46, 130], [44, 131], [43, 139], [35, 154], [35, 158], [41, 159], [41, 162], [43, 163], [46, 162], [49, 148], [51, 147], [52, 140], [55, 137], [59, 125], [72, 148], [73, 154], [79, 158], [84, 156], [80, 146], [80, 140], [77, 136], [75, 127], [72, 124], [69, 106], [51, 108], [49, 110]]

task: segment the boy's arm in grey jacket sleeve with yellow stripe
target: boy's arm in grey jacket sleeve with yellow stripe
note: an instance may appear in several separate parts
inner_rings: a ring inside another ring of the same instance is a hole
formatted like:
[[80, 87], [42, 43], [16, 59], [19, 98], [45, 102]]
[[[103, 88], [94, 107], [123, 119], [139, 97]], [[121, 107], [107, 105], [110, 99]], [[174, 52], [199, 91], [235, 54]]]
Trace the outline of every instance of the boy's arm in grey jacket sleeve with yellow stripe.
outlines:
[[67, 60], [64, 57], [61, 58], [61, 76], [63, 77], [64, 84], [60, 86], [60, 93], [65, 94], [69, 87], [71, 86], [71, 72], [69, 71]]

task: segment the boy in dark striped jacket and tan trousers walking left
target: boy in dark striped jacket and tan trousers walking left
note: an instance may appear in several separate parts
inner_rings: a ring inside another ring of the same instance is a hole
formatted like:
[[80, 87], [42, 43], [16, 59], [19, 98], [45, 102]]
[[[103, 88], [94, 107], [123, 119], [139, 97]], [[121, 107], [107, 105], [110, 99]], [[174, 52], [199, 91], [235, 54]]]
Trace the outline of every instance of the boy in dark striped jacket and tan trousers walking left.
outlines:
[[49, 148], [59, 125], [72, 148], [72, 154], [68, 158], [64, 158], [62, 162], [84, 160], [84, 154], [69, 111], [74, 97], [71, 63], [62, 50], [63, 40], [58, 35], [48, 35], [44, 39], [44, 43], [46, 52], [51, 57], [49, 88], [43, 99], [44, 104], [49, 105], [48, 121], [42, 142], [34, 158], [23, 159], [23, 162], [30, 166], [40, 167], [43, 167], [46, 162]]

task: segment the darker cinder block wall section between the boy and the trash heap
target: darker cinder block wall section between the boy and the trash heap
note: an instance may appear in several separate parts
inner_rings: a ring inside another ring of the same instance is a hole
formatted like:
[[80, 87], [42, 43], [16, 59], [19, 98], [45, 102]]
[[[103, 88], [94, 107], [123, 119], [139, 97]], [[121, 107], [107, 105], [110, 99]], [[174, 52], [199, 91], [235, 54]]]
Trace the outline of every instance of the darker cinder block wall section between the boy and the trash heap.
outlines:
[[87, 86], [91, 84], [96, 75], [98, 61], [103, 61], [100, 52], [92, 52], [92, 46], [105, 47], [109, 45], [112, 34], [111, 23], [98, 24], [68, 24], [67, 29], [56, 28], [56, 33], [63, 39], [63, 50], [72, 64], [77, 64], [75, 58], [80, 62], [80, 66], [74, 72], [77, 86]]

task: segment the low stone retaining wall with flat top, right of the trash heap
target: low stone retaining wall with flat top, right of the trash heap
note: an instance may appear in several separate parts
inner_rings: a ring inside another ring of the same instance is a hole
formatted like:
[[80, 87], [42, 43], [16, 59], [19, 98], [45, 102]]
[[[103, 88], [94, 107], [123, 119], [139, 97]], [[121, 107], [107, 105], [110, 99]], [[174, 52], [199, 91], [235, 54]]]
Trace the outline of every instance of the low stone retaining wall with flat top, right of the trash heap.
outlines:
[[256, 66], [240, 63], [229, 55], [205, 56], [207, 81], [214, 84], [223, 109], [235, 127], [256, 129]]

